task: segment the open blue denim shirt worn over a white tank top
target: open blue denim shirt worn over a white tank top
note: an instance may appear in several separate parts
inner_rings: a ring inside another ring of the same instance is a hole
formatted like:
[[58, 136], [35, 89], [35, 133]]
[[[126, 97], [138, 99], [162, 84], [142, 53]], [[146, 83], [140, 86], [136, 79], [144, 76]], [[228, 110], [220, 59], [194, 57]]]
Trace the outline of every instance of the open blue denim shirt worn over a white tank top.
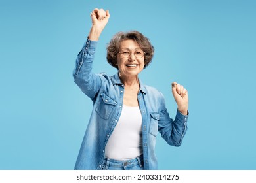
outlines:
[[[77, 56], [73, 71], [75, 83], [93, 101], [93, 111], [75, 169], [104, 169], [106, 144], [123, 107], [125, 89], [118, 73], [108, 76], [105, 73], [96, 75], [92, 72], [97, 42], [87, 39]], [[172, 120], [165, 108], [165, 99], [161, 92], [142, 84], [140, 80], [139, 82], [140, 90], [137, 99], [142, 114], [144, 169], [158, 169], [155, 154], [158, 132], [169, 145], [180, 146], [186, 133], [188, 115], [184, 116], [177, 110], [176, 118]]]

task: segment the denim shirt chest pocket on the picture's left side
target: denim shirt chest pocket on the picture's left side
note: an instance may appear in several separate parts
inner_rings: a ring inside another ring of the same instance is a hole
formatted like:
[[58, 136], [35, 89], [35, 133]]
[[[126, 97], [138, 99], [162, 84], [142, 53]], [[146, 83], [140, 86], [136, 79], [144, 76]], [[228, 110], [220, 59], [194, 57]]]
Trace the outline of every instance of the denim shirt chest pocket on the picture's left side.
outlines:
[[98, 113], [98, 116], [101, 118], [108, 120], [110, 118], [110, 115], [112, 114], [114, 107], [116, 106], [117, 102], [109, 97], [106, 93], [102, 92], [100, 93], [100, 99], [98, 100], [98, 103], [96, 104], [96, 112]]

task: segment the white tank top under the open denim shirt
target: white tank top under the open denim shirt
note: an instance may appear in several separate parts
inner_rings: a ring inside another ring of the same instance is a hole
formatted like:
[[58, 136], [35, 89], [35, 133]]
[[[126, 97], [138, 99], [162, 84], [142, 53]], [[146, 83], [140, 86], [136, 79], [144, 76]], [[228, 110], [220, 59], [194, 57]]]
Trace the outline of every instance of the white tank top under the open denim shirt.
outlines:
[[121, 116], [106, 144], [106, 158], [127, 160], [142, 154], [142, 116], [139, 106], [123, 105]]

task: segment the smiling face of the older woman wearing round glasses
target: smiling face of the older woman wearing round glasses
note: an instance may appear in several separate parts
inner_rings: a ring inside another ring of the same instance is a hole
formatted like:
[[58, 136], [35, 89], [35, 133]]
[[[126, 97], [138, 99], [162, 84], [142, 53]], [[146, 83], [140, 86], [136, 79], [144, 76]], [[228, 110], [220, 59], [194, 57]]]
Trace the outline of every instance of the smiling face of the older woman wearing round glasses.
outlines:
[[[129, 55], [129, 52], [131, 53]], [[119, 54], [117, 54], [117, 65], [121, 75], [125, 77], [138, 76], [144, 69], [144, 56], [140, 57], [144, 52], [140, 49], [139, 44], [132, 39], [121, 42]], [[125, 55], [129, 55], [128, 57]], [[137, 57], [135, 57], [137, 55]], [[127, 58], [125, 58], [127, 57]]]

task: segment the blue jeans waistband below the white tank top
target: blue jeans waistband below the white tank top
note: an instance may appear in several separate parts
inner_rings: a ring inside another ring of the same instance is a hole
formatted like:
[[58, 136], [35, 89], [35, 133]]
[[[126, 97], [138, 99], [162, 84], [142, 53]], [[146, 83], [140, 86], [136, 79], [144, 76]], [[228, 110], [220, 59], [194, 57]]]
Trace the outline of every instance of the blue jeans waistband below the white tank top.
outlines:
[[104, 170], [144, 170], [143, 155], [129, 160], [104, 159]]

